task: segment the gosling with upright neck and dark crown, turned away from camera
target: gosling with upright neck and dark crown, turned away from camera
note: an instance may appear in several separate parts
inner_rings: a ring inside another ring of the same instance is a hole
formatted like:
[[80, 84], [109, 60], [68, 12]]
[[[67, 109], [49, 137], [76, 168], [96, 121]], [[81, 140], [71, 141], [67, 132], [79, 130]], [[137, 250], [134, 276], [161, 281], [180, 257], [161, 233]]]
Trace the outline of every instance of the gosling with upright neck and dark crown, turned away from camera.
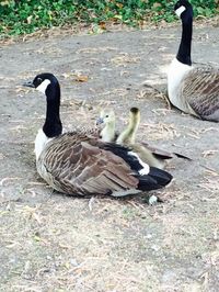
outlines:
[[129, 121], [127, 127], [120, 133], [116, 143], [127, 146], [137, 153], [140, 159], [148, 164], [149, 166], [163, 169], [165, 166], [165, 160], [173, 157], [180, 157], [191, 160], [191, 158], [177, 154], [168, 153], [158, 148], [151, 147], [147, 143], [136, 143], [136, 133], [140, 124], [140, 110], [137, 108], [131, 108], [129, 111]]

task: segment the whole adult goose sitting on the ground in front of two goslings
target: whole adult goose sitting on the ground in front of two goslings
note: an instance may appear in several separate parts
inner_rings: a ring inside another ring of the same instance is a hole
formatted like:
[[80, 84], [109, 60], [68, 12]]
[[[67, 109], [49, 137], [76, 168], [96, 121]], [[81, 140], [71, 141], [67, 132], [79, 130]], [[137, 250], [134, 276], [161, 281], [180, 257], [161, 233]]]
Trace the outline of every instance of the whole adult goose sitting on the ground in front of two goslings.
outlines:
[[160, 189], [172, 176], [142, 162], [129, 148], [80, 131], [61, 134], [60, 86], [51, 74], [24, 83], [46, 96], [46, 120], [35, 139], [36, 168], [55, 190], [71, 195], [124, 196]]

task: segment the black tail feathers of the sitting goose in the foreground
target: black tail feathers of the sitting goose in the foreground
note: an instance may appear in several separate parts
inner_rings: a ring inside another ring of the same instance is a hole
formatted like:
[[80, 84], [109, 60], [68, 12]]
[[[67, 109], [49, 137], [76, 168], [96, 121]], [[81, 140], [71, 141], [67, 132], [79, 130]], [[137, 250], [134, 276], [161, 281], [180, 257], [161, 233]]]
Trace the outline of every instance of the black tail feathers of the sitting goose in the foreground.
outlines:
[[136, 176], [139, 179], [138, 189], [141, 191], [151, 191], [165, 187], [172, 180], [172, 176], [162, 169], [150, 167], [147, 176]]

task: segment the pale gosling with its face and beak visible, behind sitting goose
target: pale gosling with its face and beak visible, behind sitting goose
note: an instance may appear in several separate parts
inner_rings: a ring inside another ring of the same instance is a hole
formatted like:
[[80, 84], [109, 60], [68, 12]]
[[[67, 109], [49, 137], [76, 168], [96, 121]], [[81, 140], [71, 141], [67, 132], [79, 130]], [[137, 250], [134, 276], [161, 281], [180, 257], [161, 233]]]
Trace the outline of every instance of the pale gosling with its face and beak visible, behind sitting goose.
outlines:
[[115, 131], [116, 117], [112, 109], [104, 109], [96, 119], [96, 125], [102, 125], [100, 138], [103, 142], [115, 142], [117, 134]]

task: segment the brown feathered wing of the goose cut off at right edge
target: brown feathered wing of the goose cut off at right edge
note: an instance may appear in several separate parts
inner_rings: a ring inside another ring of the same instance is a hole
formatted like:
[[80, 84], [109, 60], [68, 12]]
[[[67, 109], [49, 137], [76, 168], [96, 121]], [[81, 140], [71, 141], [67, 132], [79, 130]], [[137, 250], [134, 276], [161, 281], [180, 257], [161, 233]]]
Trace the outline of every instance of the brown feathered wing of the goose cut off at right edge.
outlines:
[[182, 83], [181, 94], [201, 119], [219, 121], [219, 69], [192, 70]]

